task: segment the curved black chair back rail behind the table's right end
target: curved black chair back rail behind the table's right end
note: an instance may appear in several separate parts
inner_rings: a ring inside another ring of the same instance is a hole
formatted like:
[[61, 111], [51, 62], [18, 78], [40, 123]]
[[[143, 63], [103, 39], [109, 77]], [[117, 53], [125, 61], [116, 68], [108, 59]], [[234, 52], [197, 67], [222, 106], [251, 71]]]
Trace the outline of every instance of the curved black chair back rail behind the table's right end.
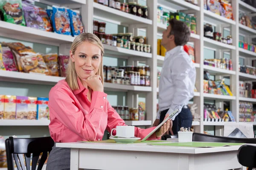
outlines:
[[230, 138], [223, 136], [207, 135], [203, 133], [193, 133], [192, 141], [256, 144], [256, 138]]

